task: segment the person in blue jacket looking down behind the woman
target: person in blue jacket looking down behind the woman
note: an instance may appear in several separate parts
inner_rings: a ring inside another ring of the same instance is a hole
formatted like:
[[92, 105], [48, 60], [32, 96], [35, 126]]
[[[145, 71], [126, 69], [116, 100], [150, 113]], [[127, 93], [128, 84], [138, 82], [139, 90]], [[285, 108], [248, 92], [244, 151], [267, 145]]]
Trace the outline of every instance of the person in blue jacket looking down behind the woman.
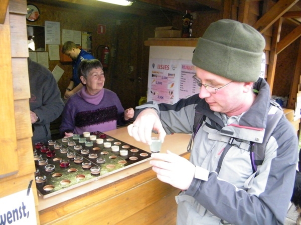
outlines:
[[64, 98], [68, 99], [70, 96], [79, 91], [83, 84], [81, 83], [78, 75], [77, 68], [79, 63], [84, 59], [94, 59], [95, 57], [89, 52], [78, 48], [78, 46], [72, 41], [66, 41], [62, 47], [62, 53], [66, 54], [72, 59], [72, 78], [70, 79], [70, 83], [66, 88]]

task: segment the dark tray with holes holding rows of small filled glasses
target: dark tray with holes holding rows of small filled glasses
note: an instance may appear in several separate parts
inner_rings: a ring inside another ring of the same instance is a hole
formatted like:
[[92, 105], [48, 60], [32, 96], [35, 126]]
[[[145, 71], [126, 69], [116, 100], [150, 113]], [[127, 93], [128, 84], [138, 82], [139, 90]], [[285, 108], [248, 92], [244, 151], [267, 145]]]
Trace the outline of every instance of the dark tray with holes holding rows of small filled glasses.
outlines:
[[105, 133], [36, 143], [36, 184], [43, 198], [105, 177], [150, 159], [150, 153]]

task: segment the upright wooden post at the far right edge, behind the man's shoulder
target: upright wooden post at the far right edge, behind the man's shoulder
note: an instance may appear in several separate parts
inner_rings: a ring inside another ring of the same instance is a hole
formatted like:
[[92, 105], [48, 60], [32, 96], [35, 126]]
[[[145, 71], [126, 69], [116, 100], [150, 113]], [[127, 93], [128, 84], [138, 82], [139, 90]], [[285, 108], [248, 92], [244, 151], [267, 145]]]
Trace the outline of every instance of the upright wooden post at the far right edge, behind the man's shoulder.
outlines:
[[297, 93], [299, 92], [299, 85], [300, 85], [300, 71], [301, 71], [301, 40], [299, 41], [299, 50], [298, 50], [298, 56], [297, 56], [293, 79], [291, 80], [290, 83], [290, 92], [289, 92], [289, 98], [287, 102], [287, 108], [290, 109], [295, 109]]

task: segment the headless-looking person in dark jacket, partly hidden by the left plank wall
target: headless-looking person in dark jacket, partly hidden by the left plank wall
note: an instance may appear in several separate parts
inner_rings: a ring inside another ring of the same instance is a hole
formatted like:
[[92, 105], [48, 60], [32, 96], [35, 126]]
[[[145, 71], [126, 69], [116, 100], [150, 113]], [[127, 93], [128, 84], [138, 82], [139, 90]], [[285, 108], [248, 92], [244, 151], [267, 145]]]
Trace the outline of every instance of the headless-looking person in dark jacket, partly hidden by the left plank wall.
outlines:
[[32, 142], [47, 142], [51, 139], [50, 122], [60, 116], [64, 102], [58, 84], [48, 68], [28, 58], [28, 74]]

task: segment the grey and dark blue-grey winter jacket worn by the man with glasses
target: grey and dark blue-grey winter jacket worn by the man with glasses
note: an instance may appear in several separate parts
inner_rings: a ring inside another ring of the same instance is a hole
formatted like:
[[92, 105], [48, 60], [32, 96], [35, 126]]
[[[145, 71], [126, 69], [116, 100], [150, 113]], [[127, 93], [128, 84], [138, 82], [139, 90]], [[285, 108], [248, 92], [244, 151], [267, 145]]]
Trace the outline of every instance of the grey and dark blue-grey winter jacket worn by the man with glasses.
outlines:
[[269, 86], [259, 78], [254, 88], [259, 91], [253, 105], [241, 116], [232, 116], [230, 124], [197, 94], [174, 105], [147, 102], [136, 107], [156, 108], [169, 134], [192, 133], [196, 111], [206, 115], [195, 135], [190, 161], [209, 170], [208, 180], [194, 178], [190, 187], [176, 197], [177, 224], [284, 224], [298, 152], [296, 133], [284, 116], [267, 142], [257, 175], [247, 147], [232, 146], [217, 171], [230, 137], [245, 143], [262, 142], [270, 106]]

